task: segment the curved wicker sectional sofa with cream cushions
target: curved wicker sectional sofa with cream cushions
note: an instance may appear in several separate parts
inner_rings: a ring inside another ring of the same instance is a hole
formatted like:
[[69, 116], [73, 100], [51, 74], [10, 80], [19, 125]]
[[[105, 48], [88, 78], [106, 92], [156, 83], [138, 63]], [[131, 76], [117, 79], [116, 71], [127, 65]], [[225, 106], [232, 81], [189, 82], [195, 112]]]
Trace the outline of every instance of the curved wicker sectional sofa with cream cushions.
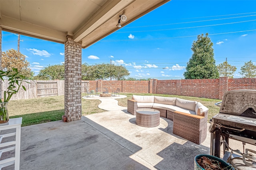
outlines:
[[173, 121], [173, 133], [196, 144], [207, 135], [208, 108], [200, 102], [160, 96], [132, 96], [127, 111], [136, 115], [137, 109], [150, 108], [160, 111], [160, 117]]

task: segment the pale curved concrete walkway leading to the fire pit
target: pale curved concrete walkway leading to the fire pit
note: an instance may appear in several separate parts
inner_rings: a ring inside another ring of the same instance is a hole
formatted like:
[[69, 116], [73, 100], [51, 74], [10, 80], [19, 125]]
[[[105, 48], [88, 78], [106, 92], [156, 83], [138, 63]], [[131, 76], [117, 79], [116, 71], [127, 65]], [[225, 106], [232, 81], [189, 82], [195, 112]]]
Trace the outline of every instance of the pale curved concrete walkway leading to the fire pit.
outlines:
[[93, 97], [82, 96], [83, 99], [89, 100], [100, 100], [99, 108], [107, 111], [116, 111], [116, 110], [127, 110], [127, 107], [122, 107], [118, 105], [118, 101], [116, 99], [126, 98], [127, 96], [111, 96], [111, 97], [100, 97], [93, 95]]

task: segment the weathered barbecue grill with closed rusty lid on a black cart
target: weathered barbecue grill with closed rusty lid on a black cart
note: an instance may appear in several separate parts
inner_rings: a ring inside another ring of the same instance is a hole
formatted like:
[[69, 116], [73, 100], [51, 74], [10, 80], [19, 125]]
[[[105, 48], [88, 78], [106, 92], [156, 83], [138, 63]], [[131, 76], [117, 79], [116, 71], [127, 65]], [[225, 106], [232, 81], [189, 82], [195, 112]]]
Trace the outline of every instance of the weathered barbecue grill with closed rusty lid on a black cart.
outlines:
[[[218, 104], [217, 104], [218, 106]], [[238, 170], [256, 170], [256, 147], [254, 150], [232, 150], [229, 139], [256, 146], [256, 90], [226, 91], [220, 106], [220, 113], [212, 117], [210, 154], [220, 158], [220, 147], [224, 147], [224, 157]], [[236, 152], [235, 155], [233, 152]], [[228, 155], [228, 156], [227, 156]], [[234, 156], [235, 155], [235, 156]]]

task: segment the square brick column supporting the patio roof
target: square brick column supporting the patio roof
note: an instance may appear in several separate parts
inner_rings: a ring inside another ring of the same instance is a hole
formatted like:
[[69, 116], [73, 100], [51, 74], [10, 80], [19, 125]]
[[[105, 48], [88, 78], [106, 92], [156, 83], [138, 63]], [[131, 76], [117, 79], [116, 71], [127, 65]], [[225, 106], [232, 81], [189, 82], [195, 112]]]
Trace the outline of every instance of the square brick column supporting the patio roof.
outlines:
[[82, 45], [67, 35], [65, 43], [65, 116], [67, 121], [80, 120], [82, 116]]

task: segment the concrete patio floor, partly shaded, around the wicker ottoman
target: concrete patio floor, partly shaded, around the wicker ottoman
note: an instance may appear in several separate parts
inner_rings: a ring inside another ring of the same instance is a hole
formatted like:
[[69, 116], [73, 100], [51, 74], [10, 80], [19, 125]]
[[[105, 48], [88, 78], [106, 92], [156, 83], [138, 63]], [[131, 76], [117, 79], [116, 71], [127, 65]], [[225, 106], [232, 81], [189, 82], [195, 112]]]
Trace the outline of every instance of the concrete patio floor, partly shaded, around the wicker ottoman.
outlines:
[[[110, 108], [112, 100], [102, 102], [101, 107]], [[197, 145], [174, 135], [168, 119], [160, 118], [157, 127], [140, 127], [126, 107], [117, 107], [82, 116], [79, 121], [22, 127], [20, 169], [192, 170], [194, 157], [210, 152], [209, 132]]]

